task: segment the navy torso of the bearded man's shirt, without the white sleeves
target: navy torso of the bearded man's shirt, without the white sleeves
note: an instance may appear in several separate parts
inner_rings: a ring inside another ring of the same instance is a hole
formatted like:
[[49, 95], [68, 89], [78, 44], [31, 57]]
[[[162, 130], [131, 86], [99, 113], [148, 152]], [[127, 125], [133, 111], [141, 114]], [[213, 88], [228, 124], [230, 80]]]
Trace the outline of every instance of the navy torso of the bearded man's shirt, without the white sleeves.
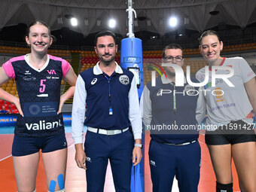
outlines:
[[120, 130], [130, 126], [128, 96], [134, 75], [127, 69], [121, 69], [123, 72], [114, 72], [111, 77], [107, 77], [109, 82], [102, 73], [94, 74], [93, 68], [81, 72], [87, 90], [86, 126], [105, 130]]

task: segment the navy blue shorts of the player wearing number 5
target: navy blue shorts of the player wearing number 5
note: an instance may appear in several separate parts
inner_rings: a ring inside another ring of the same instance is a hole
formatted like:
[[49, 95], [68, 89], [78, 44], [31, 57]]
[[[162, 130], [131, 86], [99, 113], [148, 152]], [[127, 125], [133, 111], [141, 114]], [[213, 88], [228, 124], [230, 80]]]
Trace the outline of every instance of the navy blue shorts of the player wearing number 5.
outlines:
[[47, 153], [67, 148], [67, 146], [65, 133], [48, 137], [19, 137], [14, 135], [11, 153], [13, 156], [25, 156], [35, 154], [40, 149], [42, 153]]

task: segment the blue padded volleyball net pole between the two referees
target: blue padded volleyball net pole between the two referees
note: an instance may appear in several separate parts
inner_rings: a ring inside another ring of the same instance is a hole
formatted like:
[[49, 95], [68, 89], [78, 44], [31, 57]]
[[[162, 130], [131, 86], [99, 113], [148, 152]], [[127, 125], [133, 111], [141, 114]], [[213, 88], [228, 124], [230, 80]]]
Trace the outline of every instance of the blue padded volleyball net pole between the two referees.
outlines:
[[[133, 72], [136, 76], [139, 99], [143, 90], [143, 59], [142, 59], [142, 40], [135, 38], [133, 33], [133, 14], [136, 17], [136, 11], [133, 9], [133, 0], [127, 0], [128, 8], [128, 33], [127, 38], [121, 41], [120, 65]], [[144, 134], [142, 135], [142, 144], [144, 145]], [[144, 149], [142, 149], [142, 161], [137, 166], [133, 166], [131, 178], [131, 191], [144, 192]]]

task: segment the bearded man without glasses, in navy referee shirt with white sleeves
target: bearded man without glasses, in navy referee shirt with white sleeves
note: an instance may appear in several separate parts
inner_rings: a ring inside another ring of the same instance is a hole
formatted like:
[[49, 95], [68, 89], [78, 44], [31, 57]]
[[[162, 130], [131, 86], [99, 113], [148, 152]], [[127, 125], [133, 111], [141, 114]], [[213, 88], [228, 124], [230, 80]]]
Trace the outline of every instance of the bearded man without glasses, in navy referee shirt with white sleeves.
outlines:
[[[103, 192], [108, 160], [115, 190], [130, 191], [132, 164], [136, 166], [142, 159], [142, 115], [136, 78], [114, 62], [117, 41], [113, 32], [99, 32], [94, 49], [99, 62], [81, 72], [75, 87], [75, 160], [78, 167], [87, 170], [87, 192]], [[83, 148], [84, 125], [87, 134]]]

